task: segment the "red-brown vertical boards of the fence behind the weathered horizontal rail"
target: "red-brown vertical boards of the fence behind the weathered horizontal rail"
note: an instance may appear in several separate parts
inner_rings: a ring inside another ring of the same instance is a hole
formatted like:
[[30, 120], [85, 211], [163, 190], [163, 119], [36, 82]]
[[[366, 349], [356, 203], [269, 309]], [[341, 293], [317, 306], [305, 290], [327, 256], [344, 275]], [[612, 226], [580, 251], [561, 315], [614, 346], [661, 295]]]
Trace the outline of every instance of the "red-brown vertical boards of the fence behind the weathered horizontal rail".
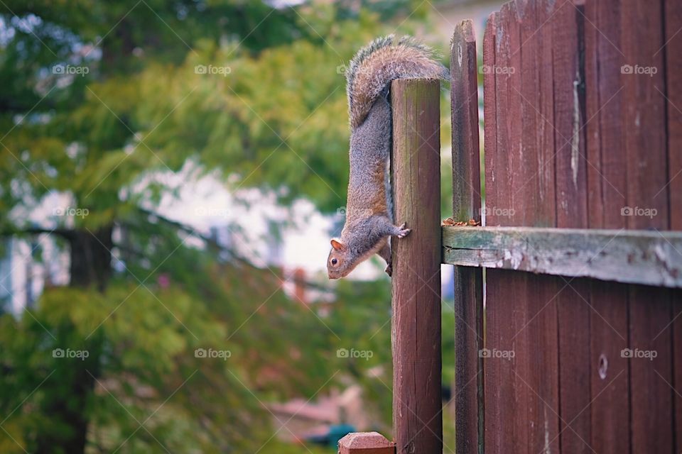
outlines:
[[[487, 226], [682, 229], [681, 29], [672, 0], [514, 1], [490, 16]], [[456, 31], [453, 65], [465, 45]], [[470, 101], [455, 93], [453, 109]], [[458, 452], [681, 452], [681, 290], [492, 269], [485, 283], [485, 333], [458, 344]], [[458, 328], [481, 326], [475, 292], [463, 304]], [[465, 387], [478, 374], [482, 389]]]

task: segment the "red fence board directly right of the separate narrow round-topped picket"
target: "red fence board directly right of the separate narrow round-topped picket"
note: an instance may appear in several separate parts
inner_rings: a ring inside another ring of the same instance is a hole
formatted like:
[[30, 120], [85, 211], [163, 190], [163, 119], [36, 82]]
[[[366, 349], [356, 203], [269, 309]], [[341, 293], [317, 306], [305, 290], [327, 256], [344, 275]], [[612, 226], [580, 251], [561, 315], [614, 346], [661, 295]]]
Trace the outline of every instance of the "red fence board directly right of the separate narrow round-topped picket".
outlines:
[[[511, 136], [514, 125], [514, 101], [519, 103], [519, 95], [514, 92], [512, 75], [519, 70], [514, 67], [512, 55], [518, 51], [519, 28], [516, 26], [516, 6], [513, 2], [504, 4], [494, 17], [494, 65], [486, 66], [484, 70], [494, 74], [494, 106], [488, 106], [494, 113], [493, 137], [496, 140], [494, 155], [486, 156], [487, 172], [492, 172], [494, 181], [486, 183], [485, 223], [497, 225], [511, 221], [513, 177], [512, 165], [514, 159], [511, 150]], [[491, 77], [492, 78], [492, 77]], [[518, 90], [519, 87], [516, 87]], [[487, 99], [484, 100], [488, 103]], [[487, 123], [487, 118], [485, 119]], [[488, 127], [486, 125], [486, 135]], [[487, 153], [487, 150], [486, 150]], [[489, 165], [489, 167], [488, 167]], [[521, 287], [525, 284], [525, 277], [516, 273], [488, 270], [486, 275], [486, 335], [485, 351], [513, 350], [512, 337], [516, 333], [514, 323], [519, 317], [514, 317], [516, 309], [504, 301], [514, 298], [522, 299]], [[520, 326], [520, 325], [519, 325]], [[487, 452], [498, 453], [504, 451], [525, 452], [525, 428], [519, 433], [516, 396], [516, 367], [509, 359], [489, 356], [484, 358], [485, 373], [485, 448]], [[523, 406], [525, 411], [525, 406]], [[521, 418], [522, 420], [523, 418]]]

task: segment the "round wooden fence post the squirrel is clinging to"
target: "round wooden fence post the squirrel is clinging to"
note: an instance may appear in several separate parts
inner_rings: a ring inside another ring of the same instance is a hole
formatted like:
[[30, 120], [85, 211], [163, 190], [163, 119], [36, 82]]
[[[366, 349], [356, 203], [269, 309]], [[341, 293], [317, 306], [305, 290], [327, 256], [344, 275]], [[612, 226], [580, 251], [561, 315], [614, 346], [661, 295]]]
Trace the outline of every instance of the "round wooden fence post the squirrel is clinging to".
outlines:
[[440, 82], [397, 79], [393, 108], [393, 426], [398, 454], [443, 452], [440, 391]]

